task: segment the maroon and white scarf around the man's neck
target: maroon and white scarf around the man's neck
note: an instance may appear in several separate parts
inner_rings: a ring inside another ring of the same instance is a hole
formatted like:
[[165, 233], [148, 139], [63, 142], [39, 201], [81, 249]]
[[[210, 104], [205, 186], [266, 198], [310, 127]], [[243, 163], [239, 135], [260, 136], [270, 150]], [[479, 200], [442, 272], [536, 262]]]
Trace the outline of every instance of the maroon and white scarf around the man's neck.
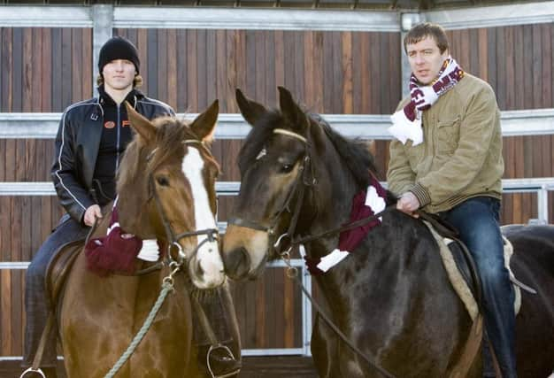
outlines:
[[422, 143], [421, 112], [429, 109], [440, 96], [452, 89], [463, 77], [464, 71], [451, 57], [444, 60], [437, 79], [430, 85], [419, 85], [419, 81], [412, 73], [410, 77], [412, 101], [390, 117], [392, 126], [389, 127], [389, 133], [403, 144], [408, 139], [412, 140], [414, 146]]

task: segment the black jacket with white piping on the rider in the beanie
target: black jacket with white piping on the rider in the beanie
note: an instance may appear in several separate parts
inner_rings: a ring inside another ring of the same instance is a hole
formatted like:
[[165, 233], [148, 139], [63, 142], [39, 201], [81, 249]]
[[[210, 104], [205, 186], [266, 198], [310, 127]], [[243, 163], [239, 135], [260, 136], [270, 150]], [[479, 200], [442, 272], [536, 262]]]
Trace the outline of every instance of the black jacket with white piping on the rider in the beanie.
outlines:
[[[169, 105], [138, 90], [132, 93], [135, 110], [147, 119], [174, 115]], [[103, 127], [104, 107], [100, 97], [70, 105], [59, 123], [50, 174], [60, 204], [79, 222], [87, 208], [96, 204], [91, 188]]]

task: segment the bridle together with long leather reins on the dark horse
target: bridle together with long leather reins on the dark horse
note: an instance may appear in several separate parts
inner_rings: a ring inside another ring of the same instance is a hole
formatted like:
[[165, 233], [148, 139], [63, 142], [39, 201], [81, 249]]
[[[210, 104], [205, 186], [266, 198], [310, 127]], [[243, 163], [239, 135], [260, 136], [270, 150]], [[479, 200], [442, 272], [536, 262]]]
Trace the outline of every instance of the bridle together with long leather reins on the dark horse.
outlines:
[[[288, 230], [281, 234], [279, 237], [277, 237], [277, 240], [275, 243], [273, 243], [273, 248], [279, 255], [279, 257], [285, 262], [285, 264], [288, 266], [287, 274], [291, 279], [293, 279], [296, 284], [302, 289], [304, 295], [312, 302], [312, 305], [316, 308], [316, 310], [319, 312], [319, 315], [327, 325], [333, 329], [335, 334], [339, 336], [344, 343], [346, 343], [352, 351], [354, 351], [361, 359], [364, 359], [365, 362], [369, 366], [373, 366], [377, 371], [379, 371], [382, 375], [388, 377], [388, 378], [394, 378], [395, 375], [389, 373], [388, 370], [385, 368], [379, 366], [377, 363], [374, 362], [374, 358], [367, 356], [363, 351], [361, 351], [358, 346], [356, 346], [354, 343], [352, 343], [344, 333], [342, 333], [341, 329], [339, 329], [333, 320], [327, 316], [325, 312], [323, 312], [323, 309], [321, 306], [313, 299], [313, 297], [310, 295], [307, 289], [304, 288], [304, 285], [297, 277], [297, 271], [296, 267], [293, 267], [290, 265], [290, 251], [292, 250], [293, 246], [299, 245], [301, 243], [308, 243], [312, 242], [313, 240], [320, 239], [327, 235], [334, 235], [339, 234], [342, 231], [346, 231], [352, 228], [358, 228], [360, 226], [365, 225], [366, 223], [371, 222], [372, 220], [378, 219], [382, 216], [384, 212], [388, 212], [390, 208], [386, 208], [382, 212], [378, 212], [376, 214], [373, 214], [369, 217], [366, 217], [361, 220], [357, 220], [351, 223], [348, 223], [346, 225], [340, 226], [338, 228], [333, 228], [330, 230], [327, 230], [325, 232], [322, 232], [318, 235], [308, 235], [304, 237], [295, 238], [295, 232], [296, 232], [296, 224], [298, 222], [298, 218], [300, 216], [300, 210], [304, 201], [304, 194], [306, 189], [311, 188], [316, 185], [317, 179], [315, 178], [313, 166], [312, 166], [312, 158], [310, 154], [310, 143], [308, 143], [308, 140], [302, 136], [298, 135], [294, 132], [291, 132], [289, 130], [285, 130], [282, 128], [275, 128], [273, 130], [273, 134], [281, 134], [281, 135], [287, 135], [292, 138], [296, 138], [297, 140], [304, 143], [304, 159], [302, 161], [302, 164], [298, 167], [298, 174], [296, 175], [296, 180], [292, 186], [292, 189], [290, 189], [289, 195], [285, 201], [285, 205], [281, 209], [280, 212], [278, 212], [275, 217], [273, 218], [273, 221], [271, 222], [271, 226], [264, 226], [257, 222], [251, 221], [251, 220], [244, 220], [242, 218], [231, 218], [227, 220], [227, 223], [234, 224], [237, 226], [241, 226], [243, 228], [252, 228], [256, 229], [258, 231], [264, 231], [268, 235], [275, 236], [275, 229], [277, 228], [281, 216], [285, 212], [289, 212], [292, 214], [292, 218], [289, 223]], [[290, 203], [292, 202], [292, 198], [295, 197], [295, 194], [297, 192], [296, 197], [296, 205], [293, 211], [290, 209]], [[287, 244], [283, 241], [289, 240], [289, 246], [287, 248]]]

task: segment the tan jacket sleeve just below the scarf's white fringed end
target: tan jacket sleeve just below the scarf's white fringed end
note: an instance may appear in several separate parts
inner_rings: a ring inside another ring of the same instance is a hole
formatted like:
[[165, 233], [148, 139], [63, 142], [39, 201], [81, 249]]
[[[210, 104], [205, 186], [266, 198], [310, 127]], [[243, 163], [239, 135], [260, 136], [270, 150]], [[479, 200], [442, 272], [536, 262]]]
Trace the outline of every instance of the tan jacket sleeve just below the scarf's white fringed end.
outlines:
[[396, 196], [400, 196], [409, 189], [412, 189], [415, 183], [415, 174], [404, 151], [404, 146], [400, 141], [393, 139], [390, 142], [389, 152], [387, 184], [391, 192]]

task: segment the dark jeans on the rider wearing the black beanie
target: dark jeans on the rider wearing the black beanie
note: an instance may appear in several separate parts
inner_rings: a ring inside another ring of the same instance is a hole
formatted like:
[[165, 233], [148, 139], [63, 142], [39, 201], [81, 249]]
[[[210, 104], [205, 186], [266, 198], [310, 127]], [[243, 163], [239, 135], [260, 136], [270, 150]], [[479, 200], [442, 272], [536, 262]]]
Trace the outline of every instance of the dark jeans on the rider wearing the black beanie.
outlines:
[[[42, 330], [46, 327], [46, 320], [48, 320], [50, 304], [47, 303], [44, 278], [50, 259], [63, 244], [84, 240], [89, 229], [73, 220], [69, 217], [69, 214], [65, 214], [59, 221], [58, 227], [42, 243], [41, 248], [36, 252], [31, 264], [27, 267], [25, 276], [27, 321], [25, 323], [25, 348], [22, 366], [31, 366], [33, 363], [36, 349], [41, 340]], [[56, 335], [56, 330], [52, 329], [44, 347], [41, 366], [56, 366]]]

